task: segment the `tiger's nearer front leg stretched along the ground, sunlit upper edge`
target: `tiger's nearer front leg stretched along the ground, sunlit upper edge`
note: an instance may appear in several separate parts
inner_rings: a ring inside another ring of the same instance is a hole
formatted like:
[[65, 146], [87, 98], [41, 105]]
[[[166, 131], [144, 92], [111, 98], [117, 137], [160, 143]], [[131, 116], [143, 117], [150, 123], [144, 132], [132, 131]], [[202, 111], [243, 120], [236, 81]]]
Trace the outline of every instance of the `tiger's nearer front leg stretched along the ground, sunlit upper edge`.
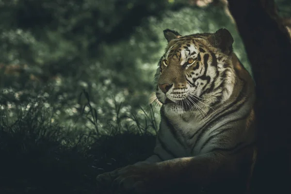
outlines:
[[237, 178], [241, 158], [212, 152], [157, 163], [129, 165], [112, 172], [110, 176], [113, 189], [119, 192], [159, 193]]

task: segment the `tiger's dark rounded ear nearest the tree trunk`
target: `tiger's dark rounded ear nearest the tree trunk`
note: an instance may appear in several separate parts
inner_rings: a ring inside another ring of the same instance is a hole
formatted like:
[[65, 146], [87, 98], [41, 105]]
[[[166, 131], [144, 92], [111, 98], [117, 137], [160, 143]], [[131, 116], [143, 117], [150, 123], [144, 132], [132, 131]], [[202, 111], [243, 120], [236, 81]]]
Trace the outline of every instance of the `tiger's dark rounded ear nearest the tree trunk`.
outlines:
[[230, 54], [232, 52], [233, 37], [225, 28], [221, 28], [211, 34], [208, 39], [214, 47], [221, 49], [222, 52], [226, 54]]

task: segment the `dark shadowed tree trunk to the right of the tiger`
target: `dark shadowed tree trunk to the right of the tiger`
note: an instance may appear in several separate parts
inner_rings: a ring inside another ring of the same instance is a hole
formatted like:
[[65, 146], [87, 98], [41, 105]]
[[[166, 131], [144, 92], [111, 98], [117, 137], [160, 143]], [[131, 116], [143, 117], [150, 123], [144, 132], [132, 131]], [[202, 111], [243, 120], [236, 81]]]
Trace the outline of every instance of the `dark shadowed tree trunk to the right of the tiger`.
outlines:
[[291, 39], [274, 0], [228, 0], [256, 81], [259, 151], [251, 193], [291, 193]]

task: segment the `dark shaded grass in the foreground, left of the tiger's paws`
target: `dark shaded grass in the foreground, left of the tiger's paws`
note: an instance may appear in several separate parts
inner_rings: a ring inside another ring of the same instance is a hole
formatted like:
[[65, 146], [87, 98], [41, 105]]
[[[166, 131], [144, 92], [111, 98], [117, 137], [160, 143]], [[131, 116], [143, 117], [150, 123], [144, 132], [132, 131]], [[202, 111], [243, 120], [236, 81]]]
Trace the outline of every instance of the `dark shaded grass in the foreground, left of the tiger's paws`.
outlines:
[[52, 122], [43, 105], [18, 106], [17, 116], [0, 106], [1, 194], [92, 194], [98, 174], [152, 153], [152, 134], [86, 135]]

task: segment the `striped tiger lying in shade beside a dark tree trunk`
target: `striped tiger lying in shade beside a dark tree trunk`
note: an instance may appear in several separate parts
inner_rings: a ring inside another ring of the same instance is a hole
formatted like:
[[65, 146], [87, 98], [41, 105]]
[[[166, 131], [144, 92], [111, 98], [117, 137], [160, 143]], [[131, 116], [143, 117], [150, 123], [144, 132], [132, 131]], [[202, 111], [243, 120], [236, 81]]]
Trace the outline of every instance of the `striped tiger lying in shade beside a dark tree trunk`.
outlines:
[[98, 175], [98, 184], [150, 194], [248, 192], [257, 153], [255, 82], [233, 52], [232, 35], [225, 28], [163, 34], [167, 46], [154, 79], [162, 107], [153, 155]]

